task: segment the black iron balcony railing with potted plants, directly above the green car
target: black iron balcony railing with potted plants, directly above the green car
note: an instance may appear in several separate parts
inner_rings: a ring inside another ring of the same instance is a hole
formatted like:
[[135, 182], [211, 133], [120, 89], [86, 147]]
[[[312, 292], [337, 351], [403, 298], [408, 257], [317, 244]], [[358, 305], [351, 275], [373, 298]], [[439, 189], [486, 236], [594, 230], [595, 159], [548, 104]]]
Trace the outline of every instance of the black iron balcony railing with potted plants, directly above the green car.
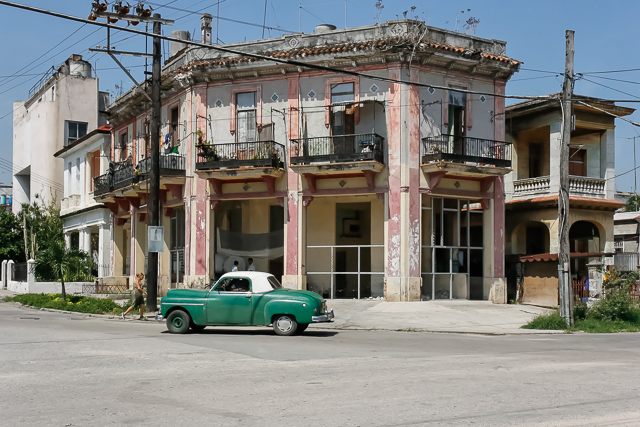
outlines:
[[284, 169], [284, 146], [275, 141], [234, 142], [230, 144], [198, 144], [196, 170], [223, 168]]

